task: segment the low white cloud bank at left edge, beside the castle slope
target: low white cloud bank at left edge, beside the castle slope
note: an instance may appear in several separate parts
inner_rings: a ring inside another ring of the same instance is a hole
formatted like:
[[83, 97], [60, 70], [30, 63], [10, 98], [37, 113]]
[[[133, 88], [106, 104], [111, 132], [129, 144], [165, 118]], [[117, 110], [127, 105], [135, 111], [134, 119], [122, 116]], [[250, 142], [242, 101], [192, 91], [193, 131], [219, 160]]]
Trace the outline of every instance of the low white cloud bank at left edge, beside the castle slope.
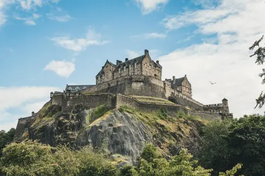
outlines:
[[[17, 119], [38, 112], [49, 98], [51, 91], [61, 91], [57, 87], [0, 87], [0, 130], [16, 128]], [[11, 111], [12, 110], [12, 111]]]

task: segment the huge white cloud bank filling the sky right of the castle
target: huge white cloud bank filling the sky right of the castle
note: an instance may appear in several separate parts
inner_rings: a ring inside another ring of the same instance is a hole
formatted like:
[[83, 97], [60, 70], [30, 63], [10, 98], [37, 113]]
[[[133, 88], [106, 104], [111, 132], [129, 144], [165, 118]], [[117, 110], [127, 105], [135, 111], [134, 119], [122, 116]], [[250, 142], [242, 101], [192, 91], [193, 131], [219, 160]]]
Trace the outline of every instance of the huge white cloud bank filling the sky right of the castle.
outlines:
[[160, 57], [163, 77], [187, 74], [194, 99], [209, 104], [220, 103], [226, 97], [234, 117], [263, 114], [263, 110], [254, 110], [255, 99], [264, 89], [258, 77], [262, 66], [249, 58], [252, 52], [248, 48], [265, 31], [264, 7], [265, 3], [257, 0], [222, 0], [214, 7], [167, 17], [165, 27], [195, 24], [199, 33], [216, 34], [216, 39], [211, 39], [216, 43], [204, 41]]

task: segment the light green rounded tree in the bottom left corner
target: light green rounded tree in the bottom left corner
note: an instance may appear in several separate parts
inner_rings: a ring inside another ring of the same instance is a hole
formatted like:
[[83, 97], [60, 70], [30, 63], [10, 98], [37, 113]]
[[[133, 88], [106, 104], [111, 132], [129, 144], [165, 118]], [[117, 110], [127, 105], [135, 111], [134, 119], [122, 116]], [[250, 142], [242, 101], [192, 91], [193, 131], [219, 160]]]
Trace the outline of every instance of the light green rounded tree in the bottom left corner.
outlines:
[[76, 175], [80, 160], [66, 148], [26, 140], [3, 150], [0, 169], [6, 176]]

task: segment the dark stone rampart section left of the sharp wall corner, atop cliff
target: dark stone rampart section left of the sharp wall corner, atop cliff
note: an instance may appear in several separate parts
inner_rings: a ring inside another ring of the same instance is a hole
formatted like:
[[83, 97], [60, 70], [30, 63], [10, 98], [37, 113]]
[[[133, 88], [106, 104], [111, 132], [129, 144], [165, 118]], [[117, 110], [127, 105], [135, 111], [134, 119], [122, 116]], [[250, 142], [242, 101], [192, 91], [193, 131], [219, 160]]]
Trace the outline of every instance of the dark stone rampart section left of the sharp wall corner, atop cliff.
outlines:
[[75, 104], [83, 104], [87, 108], [96, 108], [99, 105], [105, 104], [109, 107], [115, 107], [115, 96], [110, 93], [96, 93], [86, 95], [74, 95], [69, 97], [67, 101], [68, 106]]

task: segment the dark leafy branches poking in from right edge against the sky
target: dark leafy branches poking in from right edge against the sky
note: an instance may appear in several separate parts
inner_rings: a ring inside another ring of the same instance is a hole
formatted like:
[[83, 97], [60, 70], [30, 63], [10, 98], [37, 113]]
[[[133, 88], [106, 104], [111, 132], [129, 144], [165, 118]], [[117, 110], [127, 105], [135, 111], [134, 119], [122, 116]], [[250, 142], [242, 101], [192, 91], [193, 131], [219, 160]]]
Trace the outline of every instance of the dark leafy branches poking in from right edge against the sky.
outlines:
[[[254, 54], [250, 55], [250, 57], [256, 56], [256, 62], [258, 65], [262, 65], [264, 62], [264, 58], [265, 58], [265, 47], [261, 47], [260, 46], [260, 42], [263, 40], [262, 36], [258, 41], [255, 41], [254, 44], [249, 47], [249, 50], [253, 50], [254, 48], [257, 47], [257, 50], [254, 52]], [[259, 77], [263, 77], [261, 84], [265, 83], [265, 68], [262, 68], [262, 73], [259, 74]], [[260, 93], [259, 97], [256, 99], [256, 107], [258, 106], [258, 108], [261, 108], [265, 102], [265, 94], [262, 94], [263, 91]]]

